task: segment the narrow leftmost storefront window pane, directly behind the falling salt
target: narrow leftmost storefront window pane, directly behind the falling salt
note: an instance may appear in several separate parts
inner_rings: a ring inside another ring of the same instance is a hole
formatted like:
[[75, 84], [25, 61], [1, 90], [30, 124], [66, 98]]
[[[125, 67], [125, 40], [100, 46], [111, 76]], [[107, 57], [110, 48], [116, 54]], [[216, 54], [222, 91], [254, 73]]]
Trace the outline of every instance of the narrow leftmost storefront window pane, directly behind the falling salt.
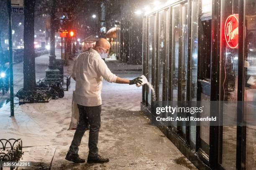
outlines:
[[[153, 43], [154, 43], [154, 15], [150, 15], [148, 17], [148, 56], [147, 56], [147, 62], [148, 62], [148, 82], [151, 84], [152, 82], [152, 59], [154, 55], [154, 50], [153, 50]], [[147, 86], [148, 88], [148, 86]], [[148, 105], [151, 105], [151, 90], [148, 88]]]

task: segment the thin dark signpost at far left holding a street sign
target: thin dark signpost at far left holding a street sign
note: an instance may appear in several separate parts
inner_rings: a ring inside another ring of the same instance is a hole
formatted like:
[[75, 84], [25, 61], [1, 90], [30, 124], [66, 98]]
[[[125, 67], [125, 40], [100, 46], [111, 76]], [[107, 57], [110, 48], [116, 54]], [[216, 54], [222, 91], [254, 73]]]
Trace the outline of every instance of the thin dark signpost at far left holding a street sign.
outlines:
[[10, 71], [10, 117], [14, 116], [14, 95], [13, 95], [13, 40], [11, 20], [11, 0], [8, 0], [8, 23], [9, 23], [9, 71]]

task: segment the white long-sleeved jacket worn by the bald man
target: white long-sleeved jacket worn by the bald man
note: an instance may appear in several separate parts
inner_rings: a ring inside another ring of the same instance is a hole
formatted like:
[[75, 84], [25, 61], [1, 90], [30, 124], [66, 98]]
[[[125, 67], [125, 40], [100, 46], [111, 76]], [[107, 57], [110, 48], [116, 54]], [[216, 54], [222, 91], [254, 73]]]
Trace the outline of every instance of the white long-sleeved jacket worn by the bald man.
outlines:
[[93, 49], [78, 55], [74, 61], [71, 77], [76, 79], [74, 100], [79, 105], [97, 106], [102, 104], [102, 77], [108, 82], [116, 82], [114, 75]]

